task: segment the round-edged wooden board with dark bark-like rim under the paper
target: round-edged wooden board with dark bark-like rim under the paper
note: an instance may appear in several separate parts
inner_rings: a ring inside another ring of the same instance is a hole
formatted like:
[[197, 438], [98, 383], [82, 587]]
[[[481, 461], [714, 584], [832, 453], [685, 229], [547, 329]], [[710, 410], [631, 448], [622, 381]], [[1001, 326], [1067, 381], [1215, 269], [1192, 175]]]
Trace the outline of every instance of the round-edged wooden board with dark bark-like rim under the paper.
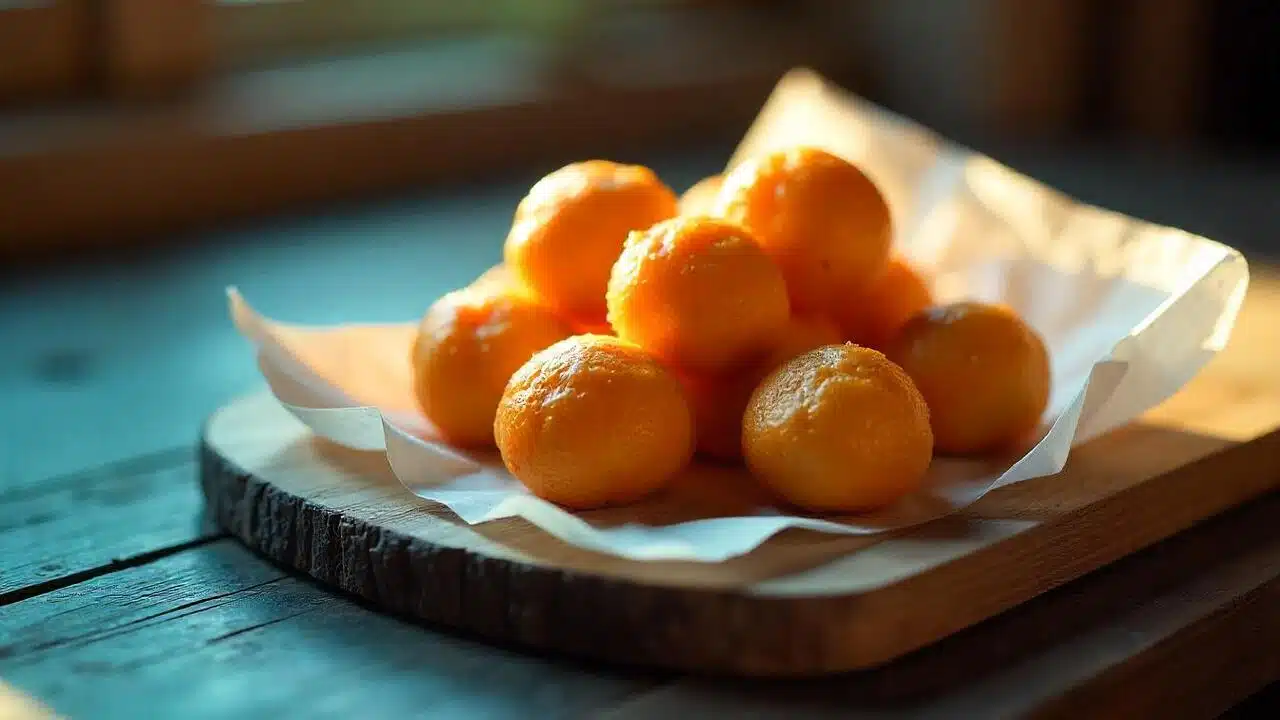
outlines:
[[225, 529], [396, 614], [572, 655], [817, 675], [886, 662], [1280, 487], [1280, 281], [1256, 277], [1230, 347], [1057, 475], [892, 536], [788, 530], [722, 564], [636, 562], [520, 519], [471, 527], [380, 454], [315, 439], [269, 395], [204, 430]]

